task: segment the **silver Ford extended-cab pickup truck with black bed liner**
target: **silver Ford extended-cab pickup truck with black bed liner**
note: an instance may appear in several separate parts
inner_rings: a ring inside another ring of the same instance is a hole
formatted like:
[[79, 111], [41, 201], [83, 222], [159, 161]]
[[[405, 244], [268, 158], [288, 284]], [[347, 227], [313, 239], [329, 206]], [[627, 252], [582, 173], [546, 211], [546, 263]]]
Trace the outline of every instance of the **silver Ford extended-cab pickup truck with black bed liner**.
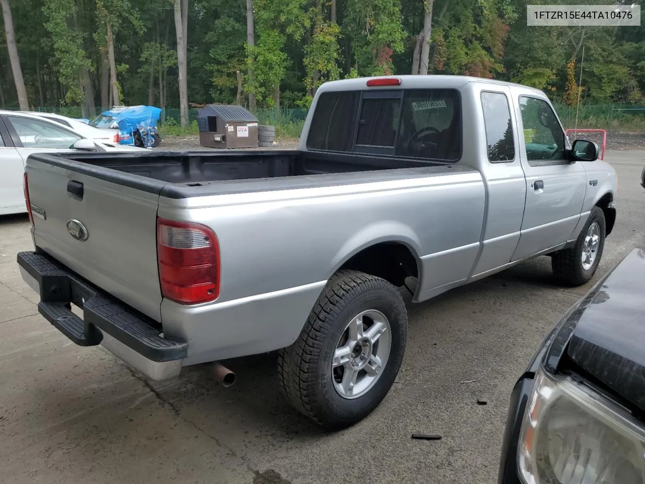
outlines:
[[404, 287], [424, 301], [541, 254], [565, 284], [593, 276], [617, 189], [597, 157], [539, 90], [334, 81], [297, 150], [33, 154], [17, 261], [75, 343], [153, 379], [279, 350], [286, 398], [340, 428], [399, 371]]

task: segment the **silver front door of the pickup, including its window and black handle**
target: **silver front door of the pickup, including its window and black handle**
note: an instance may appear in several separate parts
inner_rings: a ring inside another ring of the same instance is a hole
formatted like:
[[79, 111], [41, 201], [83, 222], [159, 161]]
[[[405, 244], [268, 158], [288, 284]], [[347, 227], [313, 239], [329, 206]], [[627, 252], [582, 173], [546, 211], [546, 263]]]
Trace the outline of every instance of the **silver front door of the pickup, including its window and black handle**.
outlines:
[[520, 241], [511, 261], [567, 241], [580, 219], [586, 190], [584, 166], [566, 159], [568, 141], [550, 103], [524, 94], [514, 101], [521, 125], [526, 203]]

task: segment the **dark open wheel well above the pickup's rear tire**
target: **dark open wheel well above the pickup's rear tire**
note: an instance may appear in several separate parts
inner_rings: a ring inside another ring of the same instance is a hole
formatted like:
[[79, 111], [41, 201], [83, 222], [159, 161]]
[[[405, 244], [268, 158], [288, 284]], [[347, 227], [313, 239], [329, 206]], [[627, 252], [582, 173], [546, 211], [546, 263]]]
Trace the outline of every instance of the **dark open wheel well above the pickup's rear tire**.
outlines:
[[340, 269], [360, 270], [382, 277], [397, 287], [404, 285], [406, 277], [419, 277], [417, 259], [410, 248], [399, 242], [383, 242], [364, 248]]

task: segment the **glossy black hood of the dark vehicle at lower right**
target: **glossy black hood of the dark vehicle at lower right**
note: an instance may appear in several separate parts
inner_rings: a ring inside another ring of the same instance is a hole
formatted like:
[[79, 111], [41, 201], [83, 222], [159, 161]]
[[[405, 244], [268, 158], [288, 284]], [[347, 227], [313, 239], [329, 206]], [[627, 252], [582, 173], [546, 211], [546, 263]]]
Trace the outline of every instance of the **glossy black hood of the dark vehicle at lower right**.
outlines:
[[568, 357], [645, 411], [645, 250], [633, 249], [595, 288], [571, 335]]

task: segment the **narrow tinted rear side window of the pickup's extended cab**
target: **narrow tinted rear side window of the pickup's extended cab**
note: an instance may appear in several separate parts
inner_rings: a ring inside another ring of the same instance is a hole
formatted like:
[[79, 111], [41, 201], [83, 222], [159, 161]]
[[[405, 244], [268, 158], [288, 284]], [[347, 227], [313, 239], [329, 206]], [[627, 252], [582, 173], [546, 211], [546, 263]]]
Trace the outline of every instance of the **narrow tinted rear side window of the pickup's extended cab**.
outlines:
[[488, 159], [493, 163], [513, 161], [515, 142], [507, 97], [501, 92], [482, 92], [481, 100]]

